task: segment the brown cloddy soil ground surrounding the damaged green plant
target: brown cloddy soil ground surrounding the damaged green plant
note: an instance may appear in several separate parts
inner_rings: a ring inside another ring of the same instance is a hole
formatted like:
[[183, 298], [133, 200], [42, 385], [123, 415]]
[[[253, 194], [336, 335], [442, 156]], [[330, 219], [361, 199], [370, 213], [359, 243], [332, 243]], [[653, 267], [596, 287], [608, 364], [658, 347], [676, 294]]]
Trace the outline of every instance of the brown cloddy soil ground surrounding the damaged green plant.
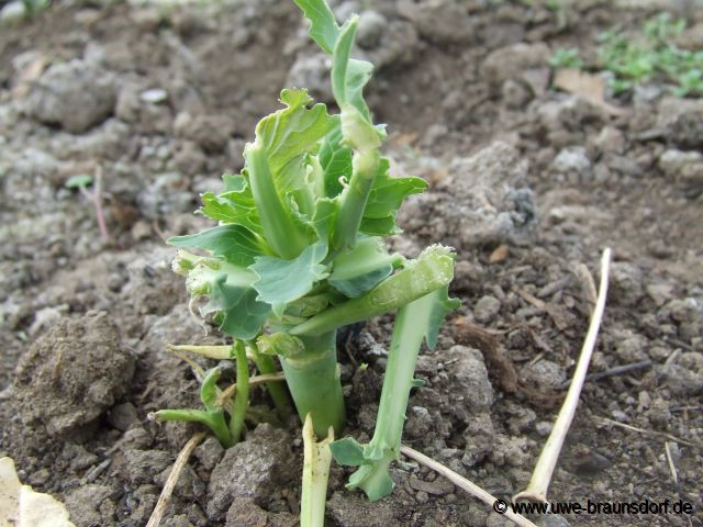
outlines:
[[[367, 93], [389, 125], [393, 170], [431, 183], [404, 205], [405, 235], [392, 244], [408, 256], [429, 243], [458, 254], [462, 307], [420, 358], [426, 385], [411, 397], [404, 441], [498, 496], [524, 489], [588, 325], [580, 265], [598, 280], [612, 247], [590, 369], [607, 373], [585, 384], [549, 496], [682, 500], [695, 513], [536, 520], [701, 526], [703, 100], [650, 85], [603, 104], [553, 89], [547, 60], [580, 47], [593, 61], [600, 32], [662, 9], [685, 18], [689, 44], [703, 46], [703, 8], [554, 3], [335, 7], [341, 18], [364, 13], [358, 52], [378, 66]], [[242, 168], [281, 88], [330, 99], [327, 66], [289, 1], [58, 1], [0, 24], [0, 455], [63, 500], [77, 526], [143, 526], [197, 429], [146, 419], [198, 403], [190, 367], [165, 347], [224, 343], [190, 317], [164, 238], [209, 225], [192, 214], [198, 194]], [[64, 187], [98, 170], [109, 240], [88, 199]], [[346, 433], [360, 441], [372, 434], [391, 324], [341, 336]], [[516, 378], [472, 326], [490, 333]], [[611, 371], [622, 366], [633, 368]], [[163, 525], [293, 526], [301, 467], [295, 419], [250, 424], [226, 452], [208, 439]], [[344, 489], [347, 474], [333, 468], [331, 527], [509, 525], [408, 459], [393, 469], [392, 496], [375, 504]]]

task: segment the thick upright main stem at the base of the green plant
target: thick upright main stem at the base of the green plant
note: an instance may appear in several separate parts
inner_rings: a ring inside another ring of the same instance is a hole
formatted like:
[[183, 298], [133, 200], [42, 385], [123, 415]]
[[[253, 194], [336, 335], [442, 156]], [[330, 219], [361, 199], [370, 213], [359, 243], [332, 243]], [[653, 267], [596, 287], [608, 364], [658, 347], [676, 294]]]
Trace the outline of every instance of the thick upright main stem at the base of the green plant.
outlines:
[[300, 337], [305, 351], [280, 357], [288, 388], [301, 421], [312, 414], [317, 437], [326, 437], [332, 426], [336, 434], [344, 427], [344, 396], [337, 365], [336, 332], [316, 337]]

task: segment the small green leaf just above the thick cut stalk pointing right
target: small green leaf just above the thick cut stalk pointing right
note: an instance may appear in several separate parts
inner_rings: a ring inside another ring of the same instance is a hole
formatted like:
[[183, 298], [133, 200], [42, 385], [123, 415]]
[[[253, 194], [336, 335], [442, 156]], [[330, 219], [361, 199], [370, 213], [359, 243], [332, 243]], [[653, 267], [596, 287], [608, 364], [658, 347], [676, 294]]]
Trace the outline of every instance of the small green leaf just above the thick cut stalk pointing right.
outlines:
[[327, 281], [348, 298], [357, 298], [390, 277], [402, 259], [400, 255], [389, 255], [380, 237], [364, 237], [356, 247], [332, 260], [333, 271]]

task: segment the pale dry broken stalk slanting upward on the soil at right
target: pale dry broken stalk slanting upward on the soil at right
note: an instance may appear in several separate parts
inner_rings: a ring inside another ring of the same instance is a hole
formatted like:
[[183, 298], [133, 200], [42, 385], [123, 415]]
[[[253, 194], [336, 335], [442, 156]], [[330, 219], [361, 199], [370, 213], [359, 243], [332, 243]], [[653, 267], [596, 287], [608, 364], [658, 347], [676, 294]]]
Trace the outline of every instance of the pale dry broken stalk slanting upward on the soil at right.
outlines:
[[551, 481], [551, 474], [559, 459], [561, 452], [561, 446], [569, 431], [571, 422], [573, 421], [573, 414], [576, 407], [579, 404], [579, 396], [581, 395], [581, 389], [583, 388], [583, 381], [585, 373], [589, 369], [589, 362], [595, 348], [595, 339], [603, 318], [603, 311], [605, 310], [605, 296], [607, 295], [607, 277], [610, 271], [611, 249], [605, 248], [603, 250], [603, 257], [601, 258], [601, 283], [599, 287], [598, 301], [591, 315], [591, 324], [581, 348], [581, 355], [579, 356], [579, 362], [577, 363], [576, 371], [573, 372], [573, 380], [567, 392], [567, 396], [563, 400], [557, 421], [554, 424], [551, 434], [542, 450], [542, 455], [537, 460], [535, 470], [532, 474], [529, 485], [523, 492], [517, 493], [513, 501], [529, 501], [547, 503], [547, 490]]

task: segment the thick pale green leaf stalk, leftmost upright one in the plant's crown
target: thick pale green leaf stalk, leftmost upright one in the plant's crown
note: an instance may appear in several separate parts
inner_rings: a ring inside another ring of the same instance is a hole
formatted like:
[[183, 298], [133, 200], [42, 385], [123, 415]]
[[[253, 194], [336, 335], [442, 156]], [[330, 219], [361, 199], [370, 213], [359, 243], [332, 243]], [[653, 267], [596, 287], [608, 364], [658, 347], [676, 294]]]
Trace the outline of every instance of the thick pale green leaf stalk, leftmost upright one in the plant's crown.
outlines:
[[266, 240], [281, 258], [295, 258], [309, 245], [309, 239], [276, 191], [267, 154], [263, 146], [254, 143], [246, 149], [245, 156], [249, 184], [261, 217]]

